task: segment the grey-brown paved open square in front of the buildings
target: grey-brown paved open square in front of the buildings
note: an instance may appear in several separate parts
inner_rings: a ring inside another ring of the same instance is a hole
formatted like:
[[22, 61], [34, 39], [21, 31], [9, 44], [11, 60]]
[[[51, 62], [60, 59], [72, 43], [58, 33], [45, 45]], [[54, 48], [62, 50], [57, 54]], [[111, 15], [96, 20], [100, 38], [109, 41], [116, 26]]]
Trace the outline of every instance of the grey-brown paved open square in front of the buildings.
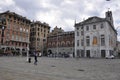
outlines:
[[120, 80], [120, 59], [0, 57], [0, 80]]

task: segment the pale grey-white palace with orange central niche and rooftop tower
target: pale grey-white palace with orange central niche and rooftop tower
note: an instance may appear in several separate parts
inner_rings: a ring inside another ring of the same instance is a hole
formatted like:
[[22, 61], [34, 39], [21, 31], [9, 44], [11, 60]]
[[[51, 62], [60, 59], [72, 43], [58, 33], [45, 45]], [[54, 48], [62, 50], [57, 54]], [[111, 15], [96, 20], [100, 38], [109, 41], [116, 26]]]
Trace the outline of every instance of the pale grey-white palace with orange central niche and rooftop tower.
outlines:
[[117, 32], [111, 11], [106, 12], [105, 18], [90, 17], [74, 27], [76, 57], [116, 55]]

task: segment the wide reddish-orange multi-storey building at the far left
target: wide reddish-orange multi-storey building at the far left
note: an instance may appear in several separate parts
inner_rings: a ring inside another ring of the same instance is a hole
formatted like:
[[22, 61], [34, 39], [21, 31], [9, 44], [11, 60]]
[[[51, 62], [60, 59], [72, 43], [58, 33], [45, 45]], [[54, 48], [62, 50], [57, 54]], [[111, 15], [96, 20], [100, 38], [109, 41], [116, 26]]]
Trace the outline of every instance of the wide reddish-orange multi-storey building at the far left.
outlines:
[[0, 48], [5, 53], [29, 51], [30, 20], [14, 12], [0, 13]]

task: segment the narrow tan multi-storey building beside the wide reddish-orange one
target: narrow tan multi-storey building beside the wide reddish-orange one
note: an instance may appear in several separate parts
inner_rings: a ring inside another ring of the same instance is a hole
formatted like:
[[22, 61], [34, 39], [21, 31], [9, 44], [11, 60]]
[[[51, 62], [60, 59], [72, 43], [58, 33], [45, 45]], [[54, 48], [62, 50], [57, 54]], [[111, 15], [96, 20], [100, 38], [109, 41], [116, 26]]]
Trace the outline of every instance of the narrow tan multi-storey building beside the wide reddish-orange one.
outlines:
[[33, 21], [30, 28], [30, 50], [36, 50], [45, 55], [46, 39], [50, 32], [50, 26], [47, 23]]

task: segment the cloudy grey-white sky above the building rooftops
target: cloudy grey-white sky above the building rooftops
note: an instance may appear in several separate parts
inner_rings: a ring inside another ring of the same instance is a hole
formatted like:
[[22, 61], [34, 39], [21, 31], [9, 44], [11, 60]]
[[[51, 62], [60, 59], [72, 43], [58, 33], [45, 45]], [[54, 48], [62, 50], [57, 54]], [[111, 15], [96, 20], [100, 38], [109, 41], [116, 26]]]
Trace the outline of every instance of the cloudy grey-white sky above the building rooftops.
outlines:
[[[46, 22], [65, 31], [74, 30], [74, 23], [88, 17], [105, 17], [111, 10], [115, 28], [120, 26], [120, 0], [1, 0], [0, 12], [10, 10], [30, 20]], [[117, 28], [120, 31], [120, 28]], [[120, 32], [118, 32], [120, 36]], [[119, 40], [120, 37], [118, 36]]]

